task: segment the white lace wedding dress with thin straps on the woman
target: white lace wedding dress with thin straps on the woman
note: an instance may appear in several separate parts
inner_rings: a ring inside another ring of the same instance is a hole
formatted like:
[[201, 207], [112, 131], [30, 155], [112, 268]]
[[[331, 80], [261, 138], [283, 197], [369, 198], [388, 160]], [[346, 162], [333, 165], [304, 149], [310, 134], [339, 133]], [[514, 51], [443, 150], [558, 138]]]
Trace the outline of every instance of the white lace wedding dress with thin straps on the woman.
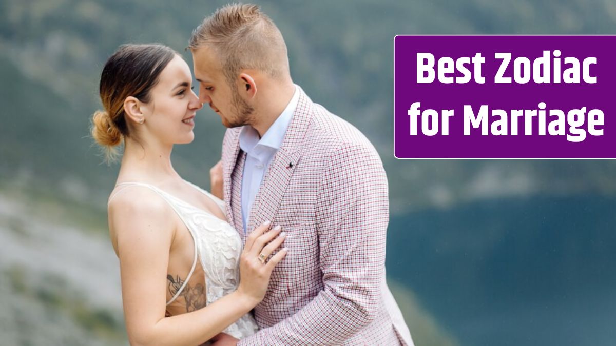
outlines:
[[[193, 183], [187, 183], [211, 198], [224, 213], [224, 201]], [[120, 189], [109, 200], [111, 201], [121, 190], [130, 186], [146, 187], [158, 193], [176, 211], [180, 219], [184, 221], [188, 231], [190, 231], [195, 244], [195, 260], [188, 277], [184, 281], [184, 285], [190, 280], [190, 276], [192, 276], [197, 265], [197, 259], [200, 259], [201, 267], [203, 267], [203, 272], [205, 272], [207, 305], [237, 289], [240, 283], [239, 260], [242, 245], [240, 235], [238, 235], [235, 228], [229, 222], [221, 220], [210, 212], [195, 207], [147, 183], [119, 183], [118, 187]], [[167, 302], [167, 305], [171, 304], [180, 295], [184, 285], [178, 289], [176, 295]], [[237, 339], [242, 339], [243, 337], [251, 336], [258, 329], [259, 327], [254, 321], [253, 316], [248, 313], [242, 316], [240, 320], [231, 324], [223, 332]]]

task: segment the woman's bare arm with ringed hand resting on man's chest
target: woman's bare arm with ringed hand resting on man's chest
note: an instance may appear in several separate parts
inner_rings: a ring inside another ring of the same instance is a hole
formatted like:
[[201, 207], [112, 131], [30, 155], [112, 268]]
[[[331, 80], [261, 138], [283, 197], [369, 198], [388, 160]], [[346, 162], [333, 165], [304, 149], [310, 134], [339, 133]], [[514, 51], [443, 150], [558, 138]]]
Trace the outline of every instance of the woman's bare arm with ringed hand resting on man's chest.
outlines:
[[[261, 301], [271, 271], [285, 253], [278, 252], [269, 263], [261, 264], [259, 253], [278, 231], [257, 228], [242, 254], [237, 291], [195, 312], [165, 317], [166, 274], [176, 214], [160, 196], [144, 188], [131, 189], [131, 194], [120, 193], [110, 204], [109, 213], [111, 237], [120, 258], [124, 316], [131, 345], [206, 342]], [[268, 248], [277, 247], [283, 238], [278, 237]]]

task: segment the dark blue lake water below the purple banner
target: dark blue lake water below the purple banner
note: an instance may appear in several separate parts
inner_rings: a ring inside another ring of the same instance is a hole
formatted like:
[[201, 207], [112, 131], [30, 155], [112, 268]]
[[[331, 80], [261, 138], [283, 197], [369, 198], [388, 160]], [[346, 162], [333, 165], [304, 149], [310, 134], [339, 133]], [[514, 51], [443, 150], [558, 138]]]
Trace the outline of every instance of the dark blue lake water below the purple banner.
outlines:
[[599, 195], [412, 212], [391, 219], [387, 275], [461, 346], [616, 345], [615, 225]]

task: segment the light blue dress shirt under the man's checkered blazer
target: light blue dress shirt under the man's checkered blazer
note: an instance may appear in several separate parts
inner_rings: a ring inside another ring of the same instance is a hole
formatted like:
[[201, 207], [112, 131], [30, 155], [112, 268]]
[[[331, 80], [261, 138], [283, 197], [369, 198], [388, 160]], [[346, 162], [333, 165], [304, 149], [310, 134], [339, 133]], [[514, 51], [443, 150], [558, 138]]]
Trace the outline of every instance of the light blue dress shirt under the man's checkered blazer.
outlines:
[[299, 101], [299, 86], [295, 86], [295, 92], [285, 110], [274, 121], [274, 124], [267, 129], [263, 137], [259, 138], [257, 132], [252, 126], [245, 125], [240, 131], [240, 148], [246, 153], [246, 161], [244, 170], [241, 176], [241, 218], [244, 224], [244, 232], [246, 233], [246, 225], [248, 224], [248, 215], [253, 207], [254, 197], [259, 191], [259, 186], [263, 180], [267, 167], [285, 137], [286, 128], [293, 118], [295, 108]]

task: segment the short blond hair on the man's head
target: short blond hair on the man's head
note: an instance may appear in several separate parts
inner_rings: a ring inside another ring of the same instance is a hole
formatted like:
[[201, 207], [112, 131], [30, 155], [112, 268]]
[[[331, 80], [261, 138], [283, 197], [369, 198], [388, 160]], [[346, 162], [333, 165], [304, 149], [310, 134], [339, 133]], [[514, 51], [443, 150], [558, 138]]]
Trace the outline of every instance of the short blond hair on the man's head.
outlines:
[[289, 74], [289, 59], [280, 30], [259, 6], [229, 4], [193, 30], [188, 48], [211, 47], [233, 83], [241, 70], [254, 69], [275, 79]]

